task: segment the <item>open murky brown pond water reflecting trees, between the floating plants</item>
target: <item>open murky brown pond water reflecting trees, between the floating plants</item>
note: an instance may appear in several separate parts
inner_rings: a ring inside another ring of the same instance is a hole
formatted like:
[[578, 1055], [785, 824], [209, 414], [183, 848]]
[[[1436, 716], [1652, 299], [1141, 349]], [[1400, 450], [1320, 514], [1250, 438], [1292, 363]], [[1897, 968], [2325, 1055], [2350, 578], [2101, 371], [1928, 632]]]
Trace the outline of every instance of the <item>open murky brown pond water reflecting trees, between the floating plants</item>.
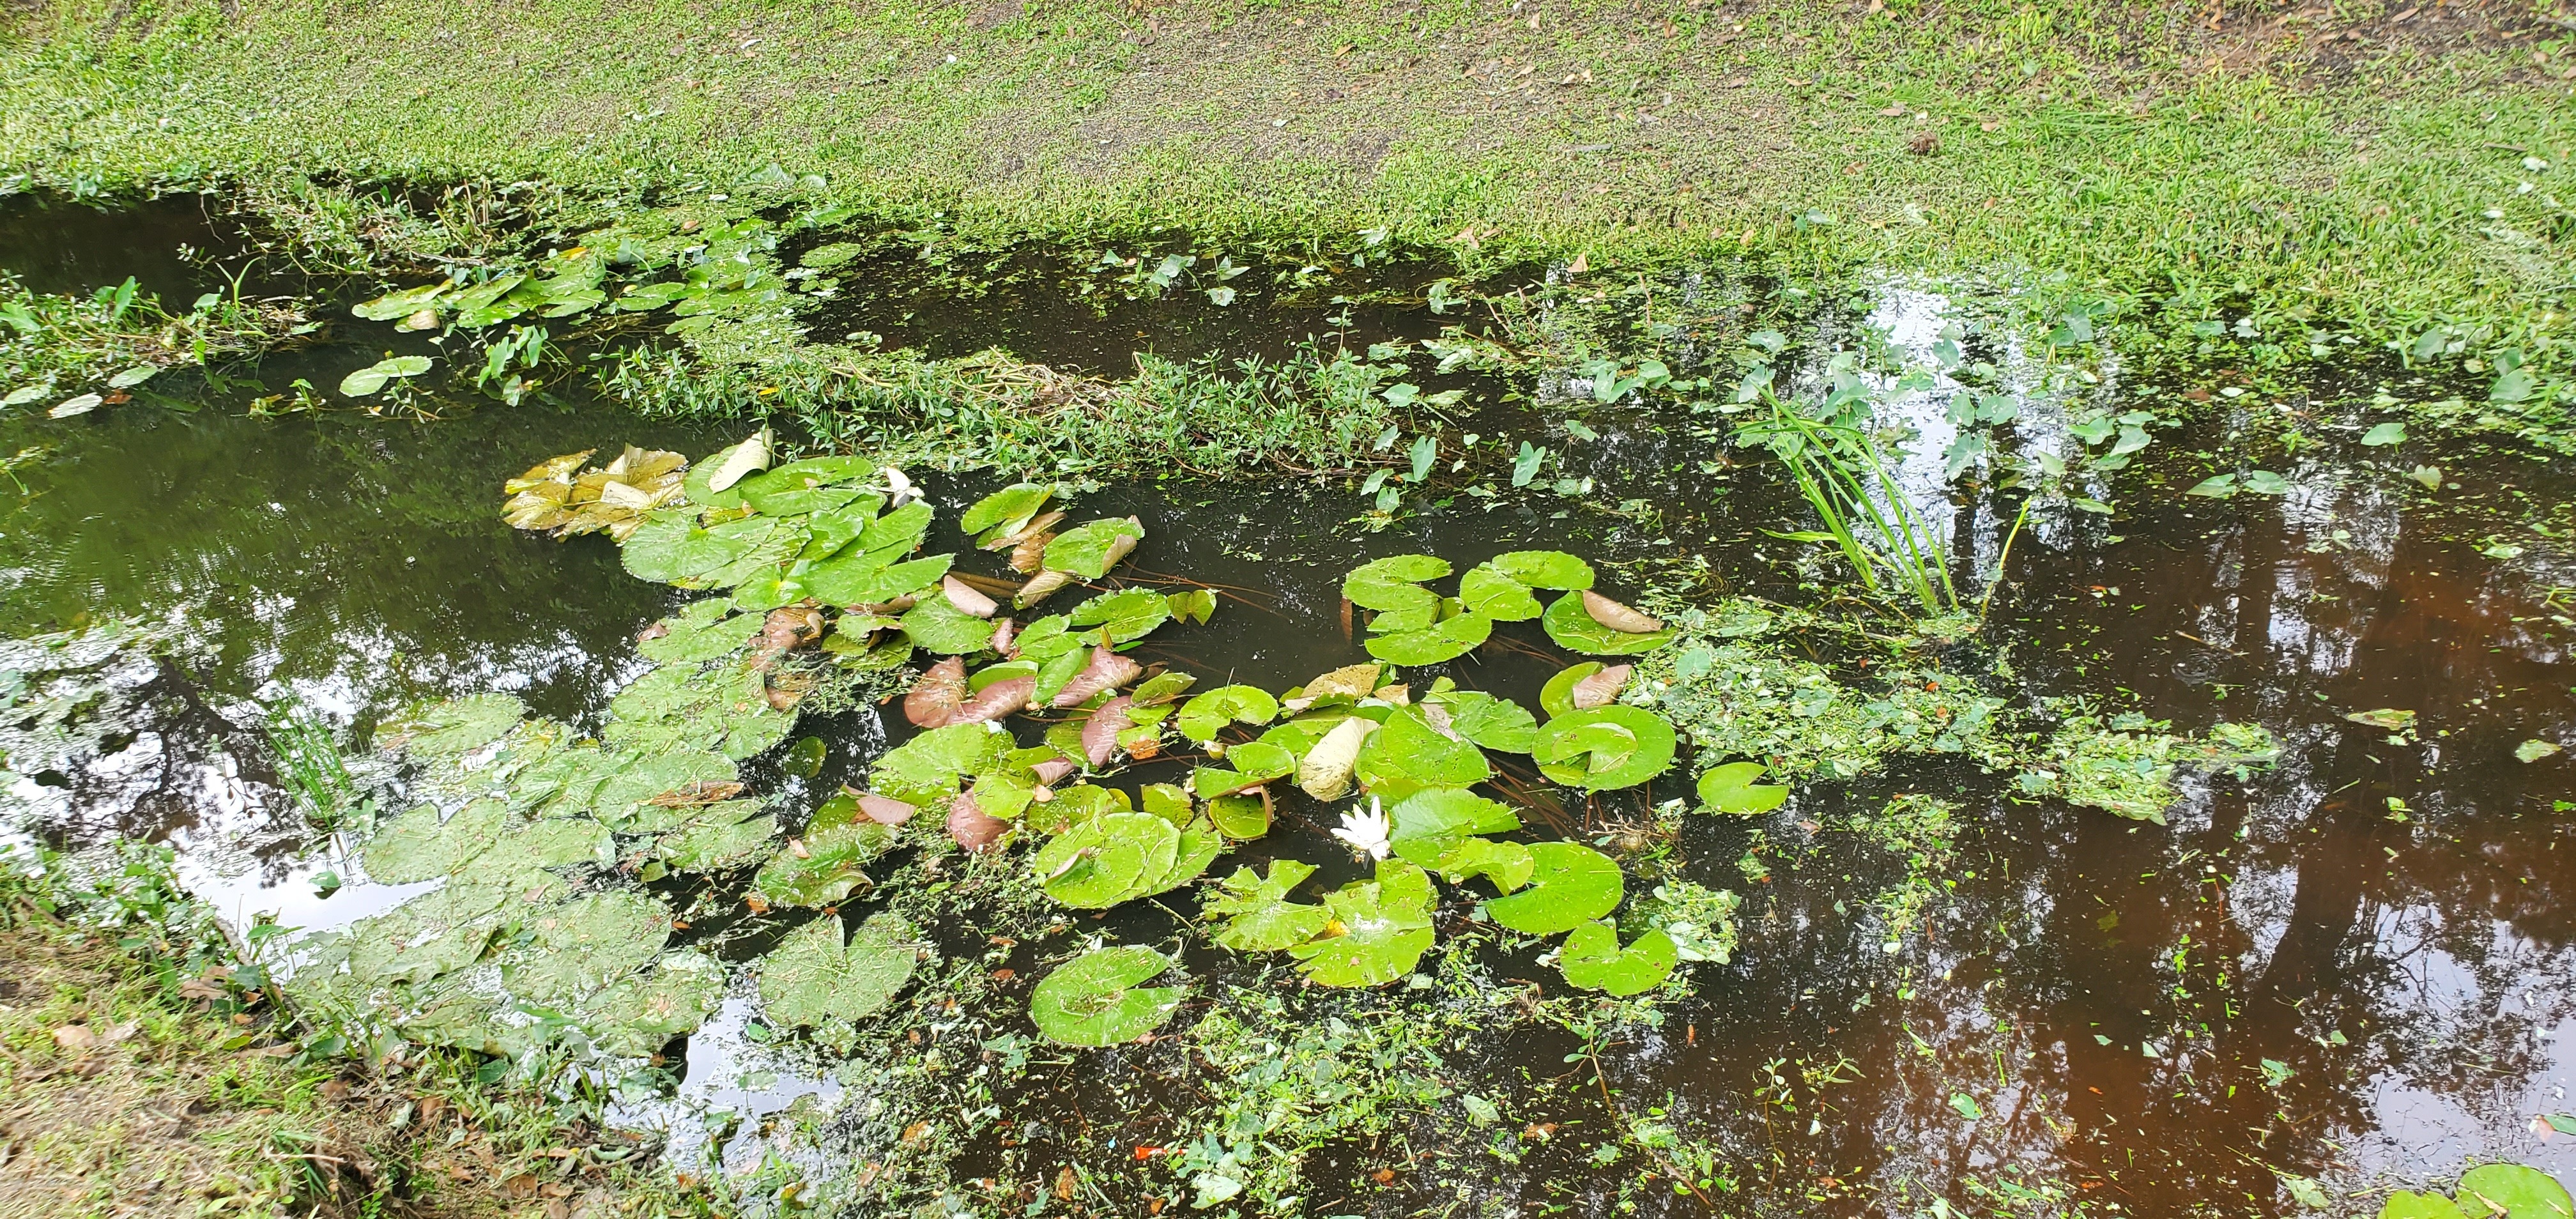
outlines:
[[[5, 232], [31, 229], [13, 216]], [[134, 265], [149, 258], [160, 253], [137, 250]], [[67, 265], [72, 278], [121, 278]], [[907, 296], [891, 286], [881, 299]], [[1188, 309], [1206, 314], [1170, 307]], [[1054, 325], [1015, 299], [896, 314], [909, 317], [876, 320], [894, 332], [987, 317], [999, 340]], [[1203, 325], [1180, 317], [1159, 332], [1208, 335], [1193, 330]], [[1203, 350], [1280, 340], [1216, 335]], [[355, 361], [330, 348], [304, 358]], [[2329, 394], [2282, 407], [2331, 415]], [[2282, 1173], [2329, 1188], [2442, 1178], [2470, 1157], [2576, 1173], [2576, 1144], [2532, 1129], [2576, 1111], [2576, 850], [2563, 848], [2576, 763], [2514, 755], [2524, 740], [2576, 745], [2576, 621], [2555, 588], [2576, 580], [2540, 546], [2481, 554], [2494, 526], [2468, 508], [2553, 503], [2571, 487], [2545, 466], [2416, 441], [2311, 448], [2290, 459], [2287, 495], [2182, 497], [2197, 479], [2179, 472], [2182, 454], [2231, 443], [2259, 410], [2272, 402], [2210, 410], [2161, 438], [2166, 459], [2123, 474], [2117, 518], [2071, 513], [2025, 531], [1976, 647], [2007, 657], [1999, 686], [2025, 704], [2089, 696], [2177, 732], [2262, 724], [2282, 742], [2277, 765], [2187, 778], [2164, 827], [2012, 799], [2009, 773], [1927, 758], [1806, 783], [1759, 820], [1685, 822], [1672, 843], [1682, 874], [1747, 894], [1744, 943], [1736, 964], [1698, 966], [1695, 995], [1669, 1003], [1662, 1028], [1631, 1028], [1597, 1059], [1631, 1113], [1654, 1108], [1718, 1152], [1739, 1191], [1716, 1198], [1726, 1214], [1937, 1214], [1935, 1198], [1973, 1214], [2287, 1214]], [[1113, 485], [1079, 503], [1144, 521], [1149, 541], [1123, 577], [1229, 593], [1211, 626], [1154, 637], [1141, 655], [1203, 683], [1285, 688], [1365, 660], [1340, 577], [1381, 554], [1466, 567], [1548, 546], [1623, 572], [1610, 585], [1625, 593], [1700, 572], [1705, 590], [1814, 600], [1785, 564], [1795, 546], [1765, 533], [1803, 528], [1793, 495], [1692, 438], [1698, 423], [1597, 410], [1600, 436], [1569, 441], [1538, 415], [1497, 410], [1489, 436], [1558, 443], [1597, 487], [1461, 495], [1381, 531], [1355, 523], [1365, 500], [1345, 487]], [[605, 539], [507, 528], [500, 485], [551, 454], [644, 443], [701, 456], [732, 441], [595, 407], [482, 405], [435, 423], [142, 407], [0, 420], [0, 451], [49, 448], [18, 472], [23, 492], [0, 487], [0, 606], [15, 634], [131, 616], [201, 639], [157, 678], [160, 719], [137, 724], [152, 740], [72, 776], [33, 830], [62, 845], [180, 843], [234, 917], [340, 925], [381, 910], [402, 894], [355, 884], [314, 897], [309, 876], [335, 863], [294, 827], [250, 701], [291, 696], [363, 737], [422, 696], [510, 691], [595, 727], [644, 667], [636, 631], [685, 595], [629, 577]], [[2455, 487], [2403, 479], [2427, 461]], [[940, 508], [927, 549], [999, 572], [953, 533], [956, 510], [994, 482], [920, 482]], [[1963, 503], [1958, 528], [1991, 559], [2007, 521]], [[1507, 624], [1443, 673], [1535, 704], [1558, 662], [1535, 624]], [[2416, 729], [2391, 740], [2344, 719], [2367, 709], [2416, 711]], [[824, 773], [768, 778], [811, 804], [912, 729], [881, 709], [804, 732], [827, 740]], [[1146, 765], [1139, 778], [1172, 773]], [[1669, 781], [1566, 804], [1561, 830], [1607, 832], [1680, 794]], [[1906, 881], [1906, 858], [1847, 827], [1896, 794], [1955, 801], [1958, 832], [1922, 928], [1891, 943], [1870, 899]], [[1358, 876], [1319, 822], [1329, 814], [1288, 801], [1280, 830], [1218, 871], [1306, 858], [1327, 861], [1327, 884]], [[1108, 923], [1126, 943], [1175, 928], [1164, 910]], [[1198, 979], [1239, 969], [1203, 938], [1188, 966]], [[1530, 961], [1499, 969], [1556, 984]], [[636, 1111], [685, 1126], [675, 1155], [757, 1155], [755, 1134], [708, 1152], [708, 1108], [837, 1103], [804, 1059], [750, 1041], [747, 1015], [737, 997], [680, 1046], [680, 1106]], [[1577, 1049], [1561, 1031], [1515, 1031], [1450, 1064], [1458, 1090], [1504, 1098], [1507, 1129], [1561, 1137], [1522, 1139], [1512, 1162], [1455, 1144], [1334, 1147], [1309, 1162], [1309, 1211], [1597, 1214], [1638, 1167], [1589, 1160], [1610, 1118], [1589, 1067], [1569, 1062]], [[1121, 1054], [1033, 1070], [1005, 1106], [1115, 1126], [1113, 1147], [1151, 1144], [1164, 1116], [1141, 1095], [1157, 1093], [1118, 1085]], [[1015, 1155], [1043, 1162], [1046, 1144]], [[961, 1178], [992, 1170], [969, 1160]], [[1649, 1193], [1646, 1209], [1659, 1206], [1708, 1214], [1700, 1198]]]

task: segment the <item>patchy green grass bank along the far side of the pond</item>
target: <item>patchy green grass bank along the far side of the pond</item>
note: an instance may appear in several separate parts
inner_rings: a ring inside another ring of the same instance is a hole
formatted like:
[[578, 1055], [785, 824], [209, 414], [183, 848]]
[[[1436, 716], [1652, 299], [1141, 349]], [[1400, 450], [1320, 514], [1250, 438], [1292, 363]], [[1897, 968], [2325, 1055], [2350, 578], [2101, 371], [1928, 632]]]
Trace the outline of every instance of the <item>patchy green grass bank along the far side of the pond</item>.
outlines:
[[[2125, 302], [2141, 350], [2192, 356], [2254, 317], [2223, 358], [2306, 358], [2311, 327], [2349, 327], [2437, 332], [2434, 358], [2481, 358], [2481, 384], [2506, 348], [2563, 369], [2568, 23], [2393, 8], [2228, 8], [2210, 28], [2202, 8], [2074, 0], [1669, 23], [1461, 0], [70, 0], [0, 46], [0, 178], [636, 198], [739, 193], [775, 162], [969, 235], [1388, 227], [1471, 265], [1965, 273], [2043, 317]], [[2555, 428], [2537, 399], [2519, 412]]]

